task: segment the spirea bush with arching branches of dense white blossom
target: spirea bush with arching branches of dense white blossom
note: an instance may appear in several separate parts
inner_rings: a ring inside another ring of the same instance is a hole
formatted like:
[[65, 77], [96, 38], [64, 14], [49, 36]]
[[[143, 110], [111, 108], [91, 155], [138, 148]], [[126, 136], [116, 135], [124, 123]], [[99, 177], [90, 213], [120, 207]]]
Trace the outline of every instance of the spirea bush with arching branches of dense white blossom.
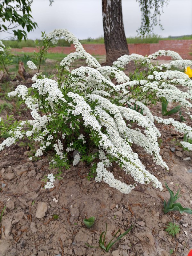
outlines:
[[[152, 182], [156, 188], [163, 189], [161, 182], [133, 152], [132, 144], [143, 147], [156, 164], [168, 169], [159, 154], [157, 140], [161, 134], [154, 124], [156, 121], [171, 124], [184, 133], [183, 146], [191, 149], [191, 127], [172, 118], [154, 116], [147, 106], [162, 100], [178, 102], [191, 117], [192, 81], [183, 72], [170, 69], [185, 68], [192, 65], [192, 61], [182, 60], [176, 52], [158, 51], [148, 57], [124, 55], [112, 67], [101, 67], [68, 30], [54, 30], [44, 35], [44, 40], [56, 44], [62, 37], [73, 42], [76, 51], [61, 61], [57, 80], [36, 73], [31, 88], [19, 85], [8, 94], [20, 97], [31, 110], [31, 117], [10, 126], [11, 137], [0, 144], [0, 150], [28, 138], [37, 147], [30, 160], [49, 151], [52, 152], [51, 167], [69, 168], [71, 164], [85, 161], [90, 164], [90, 176], [96, 181], [103, 180], [125, 194], [138, 183]], [[162, 55], [171, 56], [173, 60], [160, 66], [151, 63], [151, 59]], [[70, 64], [80, 58], [85, 59], [87, 66], [70, 71]], [[126, 76], [123, 70], [131, 60], [147, 67], [146, 71], [137, 77], [136, 74], [131, 78]], [[36, 68], [31, 61], [28, 67]], [[186, 87], [187, 91], [180, 91], [177, 85]], [[6, 120], [0, 122], [6, 130]], [[110, 170], [113, 163], [131, 175], [134, 184], [116, 180]]]

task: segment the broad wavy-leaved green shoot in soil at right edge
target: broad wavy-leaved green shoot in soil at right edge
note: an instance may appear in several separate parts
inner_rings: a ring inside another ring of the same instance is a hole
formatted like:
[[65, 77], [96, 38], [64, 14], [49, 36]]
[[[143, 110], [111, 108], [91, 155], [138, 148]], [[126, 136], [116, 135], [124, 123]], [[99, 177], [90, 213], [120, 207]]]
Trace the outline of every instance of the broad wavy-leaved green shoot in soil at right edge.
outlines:
[[165, 182], [165, 186], [169, 191], [170, 199], [168, 203], [166, 204], [166, 201], [164, 200], [164, 213], [170, 212], [170, 211], [179, 211], [180, 213], [187, 212], [189, 214], [192, 214], [192, 210], [190, 208], [183, 208], [180, 203], [175, 203], [175, 201], [180, 197], [178, 189], [177, 193], [174, 196], [173, 191], [168, 187], [167, 183]]

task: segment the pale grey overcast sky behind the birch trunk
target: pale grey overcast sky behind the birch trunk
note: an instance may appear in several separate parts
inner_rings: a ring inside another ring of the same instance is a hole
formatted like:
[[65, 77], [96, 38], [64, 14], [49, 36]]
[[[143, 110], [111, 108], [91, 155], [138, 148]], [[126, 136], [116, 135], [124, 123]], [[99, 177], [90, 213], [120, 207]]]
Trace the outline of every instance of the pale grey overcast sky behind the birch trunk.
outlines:
[[[79, 39], [103, 36], [101, 0], [33, 0], [32, 16], [38, 28], [28, 34], [29, 39], [41, 37], [55, 28], [67, 28]], [[123, 20], [126, 37], [136, 36], [140, 27], [141, 12], [136, 0], [122, 0]], [[158, 27], [154, 33], [159, 36], [180, 36], [192, 34], [192, 0], [170, 0], [161, 15], [164, 30]], [[1, 33], [0, 38], [7, 34]]]

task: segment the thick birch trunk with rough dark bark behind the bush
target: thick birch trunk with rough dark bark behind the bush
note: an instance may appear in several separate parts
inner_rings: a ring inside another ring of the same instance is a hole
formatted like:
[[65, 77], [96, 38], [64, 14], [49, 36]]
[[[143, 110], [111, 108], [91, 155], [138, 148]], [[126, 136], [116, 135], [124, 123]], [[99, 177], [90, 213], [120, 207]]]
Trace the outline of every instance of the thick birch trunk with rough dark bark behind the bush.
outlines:
[[124, 54], [129, 54], [124, 32], [121, 0], [102, 0], [103, 30], [106, 63], [112, 65]]

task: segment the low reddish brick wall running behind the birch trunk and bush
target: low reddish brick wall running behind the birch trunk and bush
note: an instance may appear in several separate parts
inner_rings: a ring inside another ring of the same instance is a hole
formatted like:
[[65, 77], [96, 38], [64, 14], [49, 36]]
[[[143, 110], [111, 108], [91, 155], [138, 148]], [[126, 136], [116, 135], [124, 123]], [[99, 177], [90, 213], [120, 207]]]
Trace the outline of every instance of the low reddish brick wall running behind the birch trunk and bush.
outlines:
[[[104, 44], [83, 44], [86, 52], [93, 55], [105, 55]], [[172, 50], [178, 52], [183, 59], [192, 60], [192, 56], [189, 52], [192, 52], [192, 40], [161, 40], [158, 44], [128, 44], [129, 52], [141, 54], [143, 56], [152, 54], [158, 50]], [[23, 47], [22, 49], [12, 49], [13, 52], [33, 52], [36, 48]], [[71, 44], [70, 47], [53, 47], [49, 52], [58, 52], [69, 54], [75, 52], [75, 47]], [[163, 57], [163, 59], [170, 59], [169, 57]]]

